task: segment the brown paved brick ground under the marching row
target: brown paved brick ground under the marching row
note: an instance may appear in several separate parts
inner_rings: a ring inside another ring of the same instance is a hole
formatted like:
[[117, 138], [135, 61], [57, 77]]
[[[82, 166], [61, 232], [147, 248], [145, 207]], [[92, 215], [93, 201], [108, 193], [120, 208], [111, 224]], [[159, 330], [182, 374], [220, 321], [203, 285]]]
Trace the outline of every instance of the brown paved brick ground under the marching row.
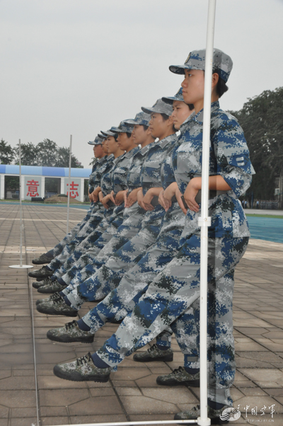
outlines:
[[[23, 212], [24, 260], [30, 263], [35, 254], [52, 248], [64, 236], [67, 214], [62, 207], [34, 205], [23, 207]], [[71, 224], [84, 214], [71, 209]], [[197, 403], [198, 388], [156, 385], [158, 374], [182, 364], [175, 341], [173, 362], [137, 364], [130, 357], [108, 384], [57, 379], [52, 374], [54, 364], [93, 352], [117, 326], [103, 327], [93, 345], [47, 340], [49, 328], [69, 320], [35, 310], [38, 293], [26, 270], [8, 268], [19, 263], [18, 243], [18, 205], [0, 205], [0, 426], [37, 425], [37, 414], [40, 425], [171, 420], [174, 413]], [[236, 270], [233, 315], [237, 373], [232, 395], [242, 417], [233, 422], [235, 425], [283, 425], [282, 255], [283, 244], [253, 239]], [[84, 306], [80, 316], [91, 306]], [[257, 408], [258, 413], [254, 410], [252, 414], [251, 408]]]

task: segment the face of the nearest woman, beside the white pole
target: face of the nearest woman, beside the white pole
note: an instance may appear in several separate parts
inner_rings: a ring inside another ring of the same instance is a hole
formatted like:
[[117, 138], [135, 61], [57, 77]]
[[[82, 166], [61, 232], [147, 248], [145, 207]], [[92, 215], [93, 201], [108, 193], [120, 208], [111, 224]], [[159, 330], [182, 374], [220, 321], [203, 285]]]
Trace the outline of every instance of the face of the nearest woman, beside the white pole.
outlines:
[[192, 103], [195, 113], [198, 113], [204, 104], [204, 71], [202, 69], [185, 69], [183, 98], [185, 103]]

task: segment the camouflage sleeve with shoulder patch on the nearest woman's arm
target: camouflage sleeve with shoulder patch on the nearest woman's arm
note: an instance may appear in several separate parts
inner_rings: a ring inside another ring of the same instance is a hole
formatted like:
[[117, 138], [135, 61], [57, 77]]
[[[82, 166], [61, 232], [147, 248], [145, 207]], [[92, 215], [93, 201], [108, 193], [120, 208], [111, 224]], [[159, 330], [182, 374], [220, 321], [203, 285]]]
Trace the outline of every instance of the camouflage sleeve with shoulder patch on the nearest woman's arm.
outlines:
[[221, 175], [236, 197], [250, 187], [255, 173], [243, 129], [231, 115], [218, 118], [212, 125], [212, 148], [216, 157], [216, 174]]

